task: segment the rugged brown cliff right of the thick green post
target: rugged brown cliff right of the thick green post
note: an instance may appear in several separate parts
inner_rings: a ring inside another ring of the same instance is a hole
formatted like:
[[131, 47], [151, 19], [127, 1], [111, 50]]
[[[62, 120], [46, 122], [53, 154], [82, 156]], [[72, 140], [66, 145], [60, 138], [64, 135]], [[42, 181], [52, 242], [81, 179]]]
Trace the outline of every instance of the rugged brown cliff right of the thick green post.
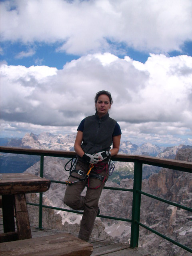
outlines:
[[[192, 207], [192, 174], [174, 170], [162, 169], [158, 174], [153, 174], [146, 182], [144, 190], [150, 194]], [[145, 198], [142, 201], [142, 223], [161, 232], [162, 234], [188, 246], [192, 247], [192, 216], [191, 212], [182, 210], [154, 199]], [[151, 251], [154, 244], [147, 241], [152, 234], [148, 231], [141, 232], [140, 241], [142, 246], [147, 246]], [[172, 246], [168, 241], [154, 236], [156, 244], [155, 255], [190, 255], [177, 246]], [[148, 245], [147, 245], [148, 244]], [[173, 249], [174, 248], [174, 249]], [[169, 252], [169, 254], [167, 253]]]

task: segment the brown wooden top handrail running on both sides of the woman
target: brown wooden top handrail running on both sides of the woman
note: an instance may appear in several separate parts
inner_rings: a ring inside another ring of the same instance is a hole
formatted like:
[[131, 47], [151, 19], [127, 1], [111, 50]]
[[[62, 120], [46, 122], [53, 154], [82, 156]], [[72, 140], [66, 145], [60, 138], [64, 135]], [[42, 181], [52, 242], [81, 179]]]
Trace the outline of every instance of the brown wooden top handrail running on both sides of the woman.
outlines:
[[[75, 158], [76, 153], [72, 151], [55, 151], [55, 150], [39, 150], [39, 149], [29, 149], [29, 148], [8, 148], [0, 147], [0, 152], [5, 153], [14, 153], [14, 154], [32, 154], [32, 155], [41, 155], [44, 156], [54, 156], [54, 157], [64, 157], [64, 158]], [[112, 157], [112, 160], [119, 162], [135, 162], [135, 160], [141, 161], [143, 164], [159, 166], [163, 168], [169, 168], [174, 170], [181, 170], [184, 172], [192, 173], [192, 163], [156, 158], [152, 156], [138, 156], [138, 155], [116, 155]]]

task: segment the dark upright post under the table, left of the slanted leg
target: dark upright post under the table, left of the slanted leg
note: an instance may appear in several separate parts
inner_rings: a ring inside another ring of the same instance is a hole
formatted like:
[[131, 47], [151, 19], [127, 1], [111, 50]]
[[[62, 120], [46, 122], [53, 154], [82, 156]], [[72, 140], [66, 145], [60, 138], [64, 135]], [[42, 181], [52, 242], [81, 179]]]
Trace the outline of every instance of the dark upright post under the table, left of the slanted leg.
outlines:
[[15, 231], [14, 220], [14, 196], [2, 196], [2, 211], [3, 211], [3, 229], [4, 233]]

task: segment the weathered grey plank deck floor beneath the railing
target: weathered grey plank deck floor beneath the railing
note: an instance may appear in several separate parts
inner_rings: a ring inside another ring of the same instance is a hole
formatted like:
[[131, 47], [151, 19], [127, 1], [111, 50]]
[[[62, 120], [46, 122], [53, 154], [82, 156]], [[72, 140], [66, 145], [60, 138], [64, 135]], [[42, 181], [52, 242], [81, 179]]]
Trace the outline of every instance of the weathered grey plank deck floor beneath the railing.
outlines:
[[[45, 228], [44, 230], [39, 230], [35, 226], [31, 226], [32, 238], [38, 238], [42, 236], [54, 235], [63, 233], [62, 230], [53, 230], [49, 228]], [[2, 218], [0, 218], [0, 233], [3, 233], [3, 222]], [[78, 234], [73, 234], [74, 236], [78, 236]], [[93, 252], [91, 256], [153, 256], [147, 250], [140, 248], [130, 248], [130, 244], [126, 243], [117, 243], [106, 240], [98, 240], [92, 238], [89, 241], [93, 245]]]

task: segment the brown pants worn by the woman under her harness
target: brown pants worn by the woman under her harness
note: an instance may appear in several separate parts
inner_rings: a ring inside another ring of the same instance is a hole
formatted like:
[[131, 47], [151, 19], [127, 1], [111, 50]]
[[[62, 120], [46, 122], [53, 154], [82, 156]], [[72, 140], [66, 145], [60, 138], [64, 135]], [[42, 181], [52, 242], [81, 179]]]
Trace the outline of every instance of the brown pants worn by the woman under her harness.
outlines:
[[[87, 173], [89, 166], [89, 163], [78, 160], [76, 164], [76, 170], [82, 170]], [[92, 169], [90, 173], [94, 174], [94, 169]], [[78, 173], [73, 173], [72, 175], [78, 178], [83, 178], [83, 176], [79, 175]], [[106, 176], [106, 170], [102, 171], [100, 175]], [[106, 180], [107, 178], [108, 174]], [[69, 180], [75, 181], [77, 179], [70, 176]], [[78, 237], [82, 240], [88, 241], [93, 230], [94, 222], [98, 212], [99, 198], [105, 182], [102, 183], [102, 181], [97, 178], [90, 178], [90, 188], [87, 187], [86, 196], [81, 196], [81, 193], [84, 190], [86, 184], [87, 180], [79, 181], [71, 185], [68, 184], [64, 196], [64, 204], [74, 210], [84, 210]], [[100, 187], [96, 188], [98, 186]]]

